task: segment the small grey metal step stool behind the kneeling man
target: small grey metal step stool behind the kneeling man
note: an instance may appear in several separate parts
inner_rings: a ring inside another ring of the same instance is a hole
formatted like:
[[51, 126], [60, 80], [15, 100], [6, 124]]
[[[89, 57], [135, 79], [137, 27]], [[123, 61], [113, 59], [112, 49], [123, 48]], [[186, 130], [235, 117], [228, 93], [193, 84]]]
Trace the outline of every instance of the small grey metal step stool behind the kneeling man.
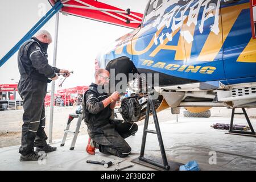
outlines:
[[[71, 130], [69, 130], [69, 127], [74, 118], [78, 118], [77, 123], [76, 123], [76, 131], [71, 131]], [[70, 134], [73, 134], [74, 137], [72, 139], [71, 147], [69, 148], [69, 150], [74, 150], [82, 119], [84, 119], [82, 114], [69, 114], [68, 123], [67, 123], [66, 129], [64, 130], [64, 136], [63, 136], [63, 139], [60, 144], [61, 147], [64, 146], [67, 135], [68, 135], [68, 133], [70, 133]]]

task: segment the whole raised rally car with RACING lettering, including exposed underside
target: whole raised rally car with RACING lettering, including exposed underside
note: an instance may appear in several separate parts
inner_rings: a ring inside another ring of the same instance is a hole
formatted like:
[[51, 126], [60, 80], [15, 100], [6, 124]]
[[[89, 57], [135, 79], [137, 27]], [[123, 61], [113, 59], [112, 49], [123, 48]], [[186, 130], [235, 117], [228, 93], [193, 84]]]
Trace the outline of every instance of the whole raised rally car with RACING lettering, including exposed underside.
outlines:
[[[157, 111], [255, 107], [255, 27], [256, 0], [150, 0], [141, 26], [104, 49], [96, 67], [159, 73], [152, 85], [160, 93]], [[127, 82], [140, 86], [143, 79]]]

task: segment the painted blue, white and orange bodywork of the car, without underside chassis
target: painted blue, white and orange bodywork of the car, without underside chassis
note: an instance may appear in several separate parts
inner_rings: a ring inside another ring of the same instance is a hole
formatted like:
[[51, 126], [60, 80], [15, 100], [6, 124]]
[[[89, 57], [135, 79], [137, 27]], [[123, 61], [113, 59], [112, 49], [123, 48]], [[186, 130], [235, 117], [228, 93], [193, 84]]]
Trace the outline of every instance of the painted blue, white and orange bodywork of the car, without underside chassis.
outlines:
[[[141, 27], [115, 40], [97, 64], [118, 72], [133, 67], [159, 73], [165, 90], [194, 83], [213, 85], [209, 90], [255, 84], [253, 1], [150, 0]], [[130, 60], [126, 64], [124, 57]]]

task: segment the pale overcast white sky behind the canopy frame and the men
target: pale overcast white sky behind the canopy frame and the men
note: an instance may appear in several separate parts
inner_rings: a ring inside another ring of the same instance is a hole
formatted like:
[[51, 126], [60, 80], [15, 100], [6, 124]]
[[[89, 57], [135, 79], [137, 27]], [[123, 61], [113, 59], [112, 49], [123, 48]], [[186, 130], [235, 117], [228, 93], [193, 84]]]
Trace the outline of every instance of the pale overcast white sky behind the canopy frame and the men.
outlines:
[[[98, 0], [131, 11], [144, 13], [148, 0]], [[49, 10], [47, 0], [0, 0], [0, 59], [30, 30]], [[55, 35], [55, 16], [42, 28]], [[115, 39], [133, 31], [72, 15], [59, 17], [57, 68], [74, 71], [62, 88], [89, 85], [94, 81], [94, 60], [104, 47]], [[53, 43], [48, 47], [48, 62], [53, 63]], [[17, 52], [0, 67], [0, 84], [19, 81]], [[48, 90], [51, 85], [48, 85]]]

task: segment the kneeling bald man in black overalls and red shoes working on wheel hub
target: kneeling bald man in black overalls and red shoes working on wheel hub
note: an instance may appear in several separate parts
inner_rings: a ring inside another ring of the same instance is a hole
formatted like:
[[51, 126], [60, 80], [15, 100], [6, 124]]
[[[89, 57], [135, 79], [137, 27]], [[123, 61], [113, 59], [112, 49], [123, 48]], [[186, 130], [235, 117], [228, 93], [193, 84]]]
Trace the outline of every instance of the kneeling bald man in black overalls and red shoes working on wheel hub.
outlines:
[[88, 126], [89, 141], [86, 151], [94, 155], [96, 148], [103, 154], [112, 154], [124, 158], [131, 152], [125, 138], [135, 134], [138, 126], [135, 123], [110, 119], [115, 103], [119, 100], [118, 92], [108, 94], [99, 92], [98, 86], [109, 82], [109, 72], [98, 69], [95, 83], [89, 86], [83, 98], [84, 121]]

